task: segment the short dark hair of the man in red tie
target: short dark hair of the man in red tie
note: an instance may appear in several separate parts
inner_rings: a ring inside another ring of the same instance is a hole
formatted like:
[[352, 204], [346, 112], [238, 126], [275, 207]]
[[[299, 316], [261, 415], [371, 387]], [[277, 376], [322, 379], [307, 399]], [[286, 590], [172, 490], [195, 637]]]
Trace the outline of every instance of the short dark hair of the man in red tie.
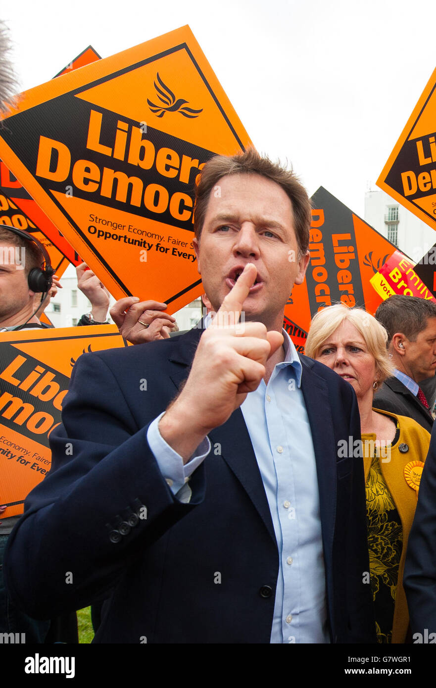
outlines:
[[420, 297], [393, 294], [380, 303], [375, 317], [388, 333], [389, 343], [395, 332], [405, 334], [413, 342], [419, 332], [426, 329], [428, 318], [436, 318], [436, 303]]

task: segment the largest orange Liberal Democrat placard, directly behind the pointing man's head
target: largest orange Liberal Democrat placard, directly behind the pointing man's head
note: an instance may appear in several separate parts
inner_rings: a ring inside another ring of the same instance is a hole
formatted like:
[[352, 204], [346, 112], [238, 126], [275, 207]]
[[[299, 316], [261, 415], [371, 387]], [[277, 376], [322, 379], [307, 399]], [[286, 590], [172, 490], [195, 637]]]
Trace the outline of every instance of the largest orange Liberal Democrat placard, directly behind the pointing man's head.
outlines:
[[114, 297], [201, 294], [195, 178], [252, 144], [188, 26], [25, 92], [4, 124], [0, 157]]

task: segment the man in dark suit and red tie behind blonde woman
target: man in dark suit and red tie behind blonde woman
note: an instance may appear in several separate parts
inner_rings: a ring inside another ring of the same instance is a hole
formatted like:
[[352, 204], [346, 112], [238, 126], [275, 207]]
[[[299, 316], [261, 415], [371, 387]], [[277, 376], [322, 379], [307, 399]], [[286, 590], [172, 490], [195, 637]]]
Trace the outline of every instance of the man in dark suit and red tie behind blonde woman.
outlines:
[[388, 333], [395, 372], [376, 392], [374, 408], [413, 418], [431, 432], [433, 416], [419, 383], [436, 372], [436, 303], [394, 295], [380, 303], [375, 317]]

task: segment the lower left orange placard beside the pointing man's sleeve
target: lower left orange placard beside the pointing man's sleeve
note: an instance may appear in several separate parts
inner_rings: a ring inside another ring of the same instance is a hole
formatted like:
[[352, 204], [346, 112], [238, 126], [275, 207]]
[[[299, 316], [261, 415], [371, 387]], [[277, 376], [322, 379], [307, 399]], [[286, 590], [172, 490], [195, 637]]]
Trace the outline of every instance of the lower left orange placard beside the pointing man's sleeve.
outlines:
[[0, 334], [0, 503], [23, 513], [51, 465], [49, 437], [61, 422], [69, 377], [81, 354], [127, 346], [115, 325]]

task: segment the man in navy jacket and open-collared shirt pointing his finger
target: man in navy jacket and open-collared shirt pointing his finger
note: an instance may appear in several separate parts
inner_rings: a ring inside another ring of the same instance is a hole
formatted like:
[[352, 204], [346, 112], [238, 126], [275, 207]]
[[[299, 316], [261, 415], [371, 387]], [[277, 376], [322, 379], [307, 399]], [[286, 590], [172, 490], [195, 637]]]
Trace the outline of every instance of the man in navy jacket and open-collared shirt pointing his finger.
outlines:
[[36, 616], [109, 596], [100, 643], [371, 642], [356, 396], [282, 334], [307, 194], [254, 151], [213, 158], [196, 194], [215, 312], [80, 358], [10, 592]]

